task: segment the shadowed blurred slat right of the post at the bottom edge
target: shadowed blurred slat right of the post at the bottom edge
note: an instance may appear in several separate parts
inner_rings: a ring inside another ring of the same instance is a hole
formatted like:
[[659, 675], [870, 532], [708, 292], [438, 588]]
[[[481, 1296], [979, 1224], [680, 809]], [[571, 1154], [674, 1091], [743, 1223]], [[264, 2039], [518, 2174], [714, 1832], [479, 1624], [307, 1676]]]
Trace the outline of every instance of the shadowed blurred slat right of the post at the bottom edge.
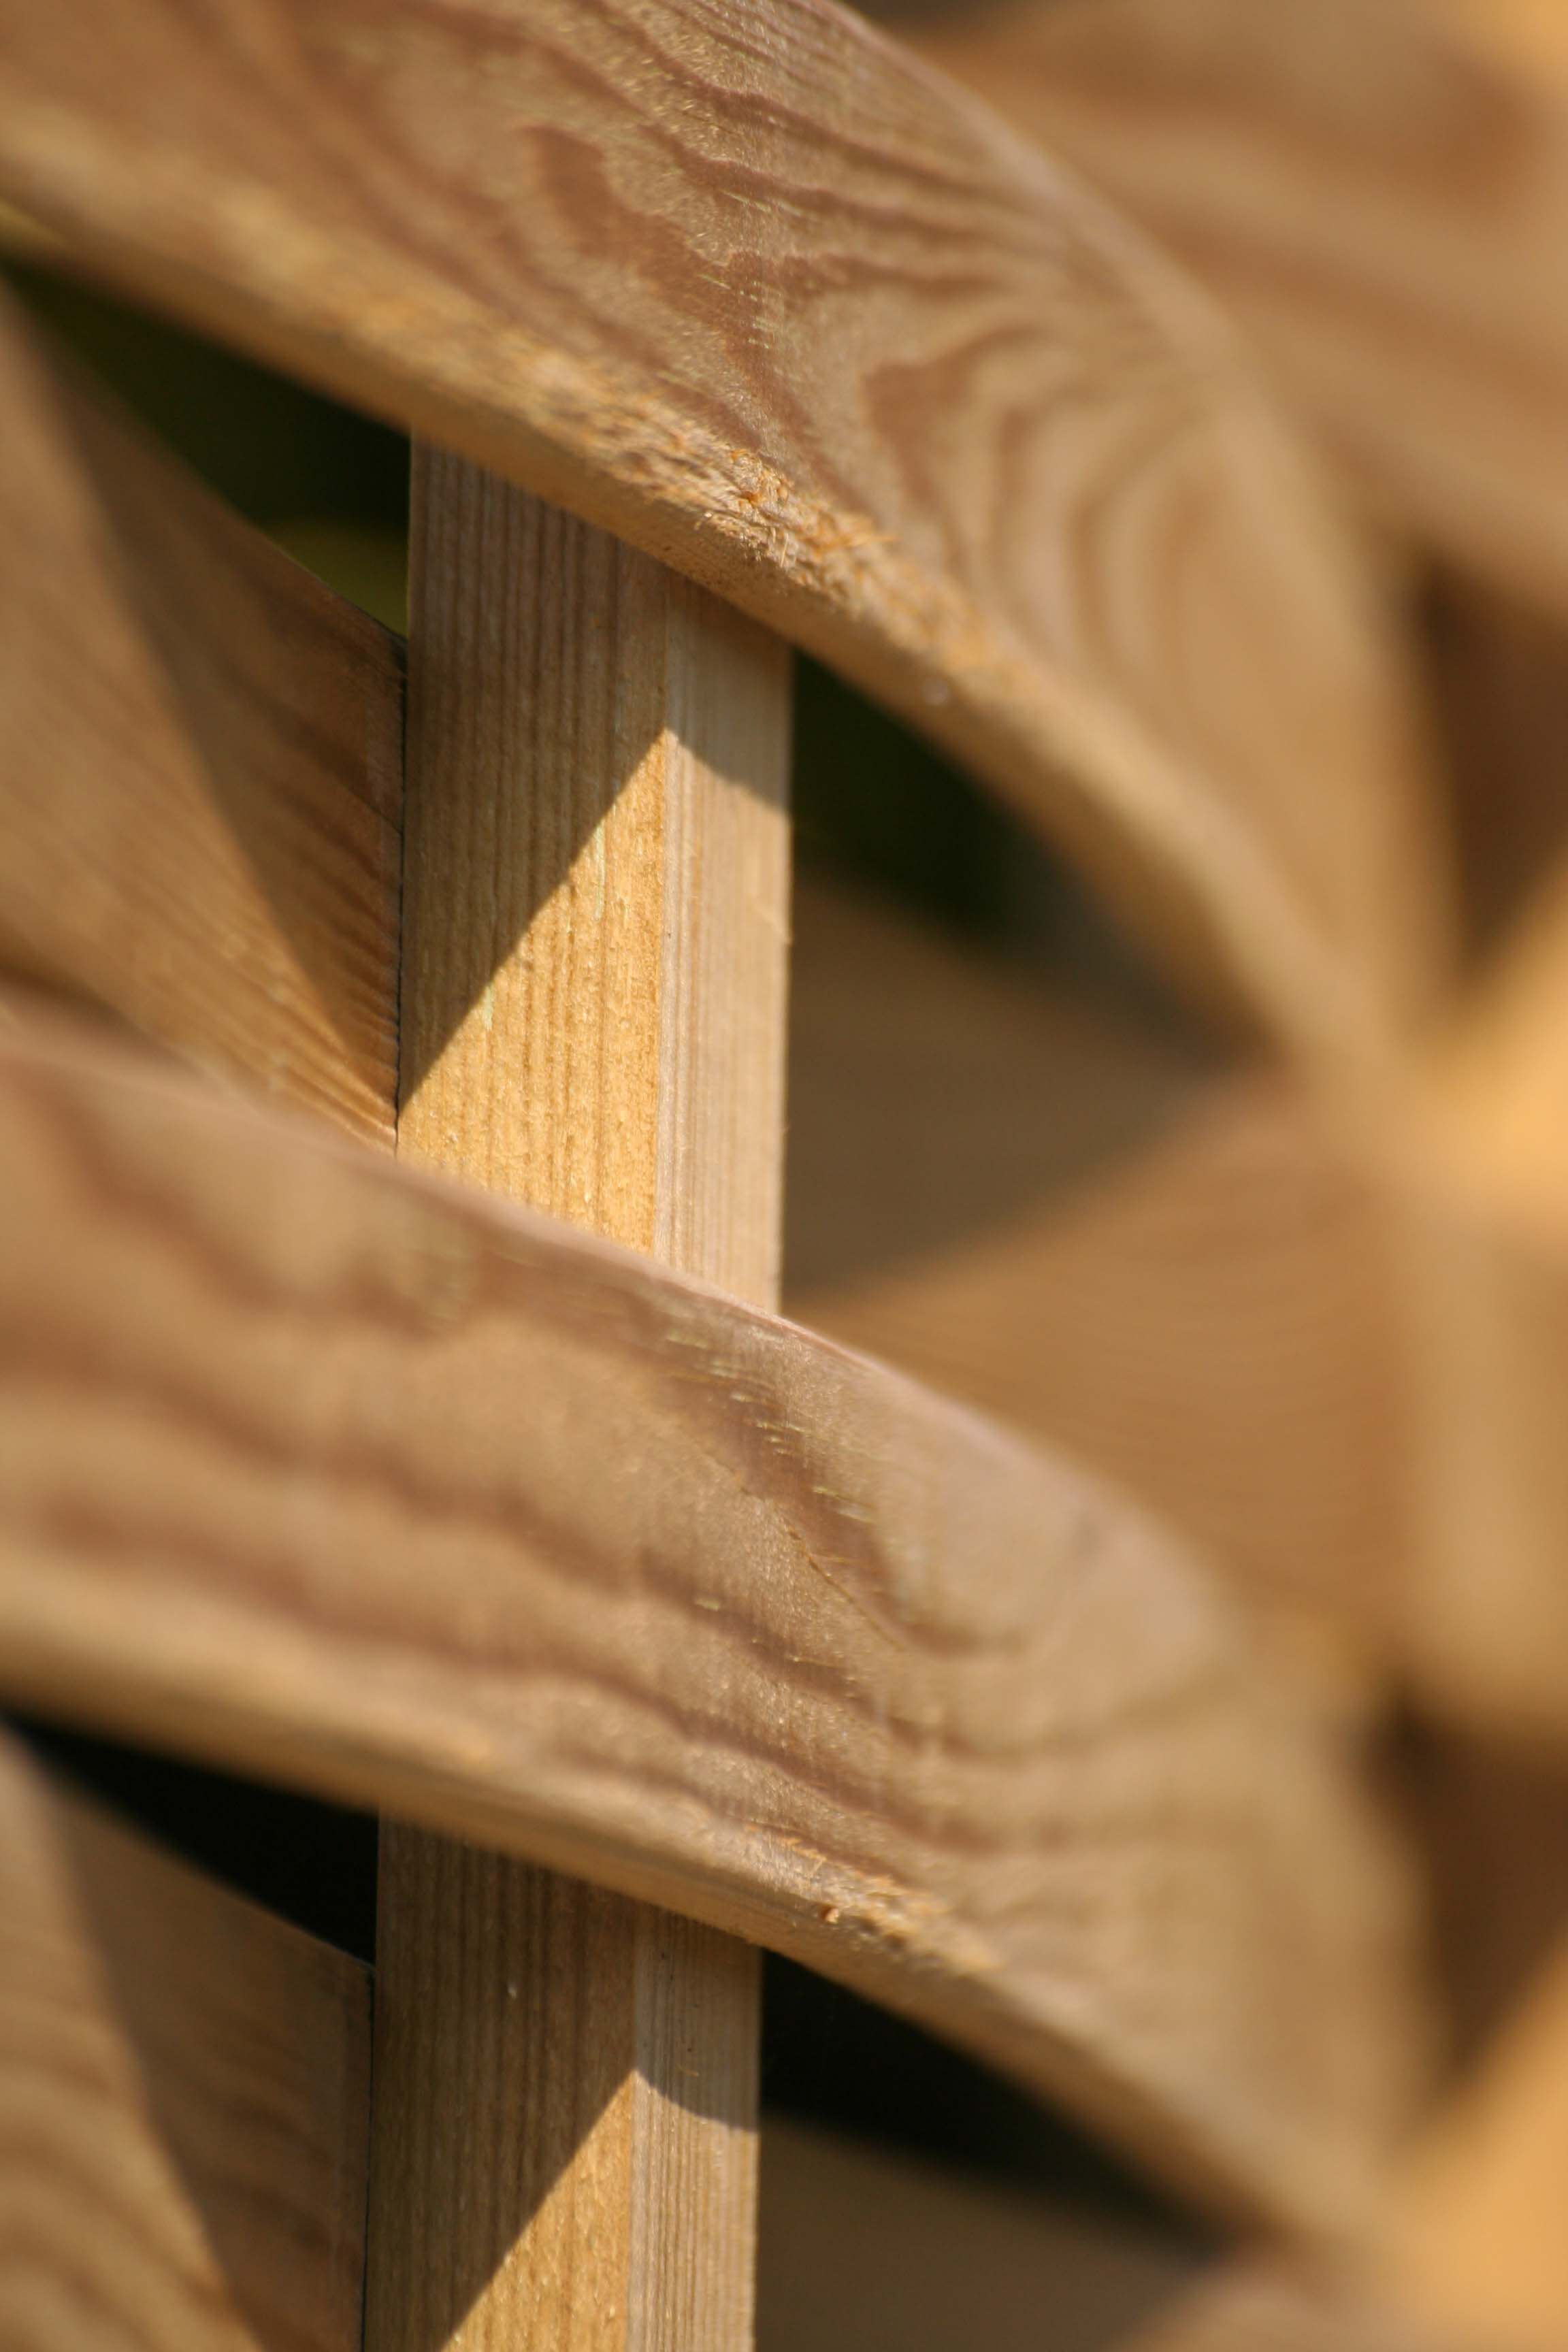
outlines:
[[757, 2352], [1105, 2352], [1180, 2239], [766, 2114]]

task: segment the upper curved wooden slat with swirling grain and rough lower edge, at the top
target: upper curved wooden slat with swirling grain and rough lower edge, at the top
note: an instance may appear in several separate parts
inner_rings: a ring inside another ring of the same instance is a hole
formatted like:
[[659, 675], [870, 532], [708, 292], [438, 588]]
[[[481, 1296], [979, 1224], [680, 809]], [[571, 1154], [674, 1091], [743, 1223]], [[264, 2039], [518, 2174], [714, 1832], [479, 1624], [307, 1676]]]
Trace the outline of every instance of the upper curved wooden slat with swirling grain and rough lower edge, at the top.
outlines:
[[1138, 235], [823, 0], [9, 0], [0, 188], [642, 546], [1020, 797], [1284, 1033], [1446, 960], [1385, 614]]

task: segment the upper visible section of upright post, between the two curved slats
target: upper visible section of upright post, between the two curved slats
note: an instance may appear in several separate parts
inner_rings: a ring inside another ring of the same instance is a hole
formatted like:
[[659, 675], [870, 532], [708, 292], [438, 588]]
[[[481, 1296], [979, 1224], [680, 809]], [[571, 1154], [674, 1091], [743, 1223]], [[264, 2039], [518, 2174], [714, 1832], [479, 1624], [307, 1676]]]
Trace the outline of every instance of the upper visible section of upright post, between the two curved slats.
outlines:
[[778, 1298], [790, 654], [421, 452], [400, 1155]]

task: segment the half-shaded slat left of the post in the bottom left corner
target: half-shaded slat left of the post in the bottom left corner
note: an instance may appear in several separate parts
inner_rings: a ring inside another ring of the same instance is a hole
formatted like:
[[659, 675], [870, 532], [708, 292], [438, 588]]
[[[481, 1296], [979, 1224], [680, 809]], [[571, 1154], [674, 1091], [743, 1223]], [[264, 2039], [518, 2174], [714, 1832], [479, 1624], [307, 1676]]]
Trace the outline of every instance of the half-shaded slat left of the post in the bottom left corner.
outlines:
[[364, 1971], [0, 1743], [0, 2340], [357, 2352]]

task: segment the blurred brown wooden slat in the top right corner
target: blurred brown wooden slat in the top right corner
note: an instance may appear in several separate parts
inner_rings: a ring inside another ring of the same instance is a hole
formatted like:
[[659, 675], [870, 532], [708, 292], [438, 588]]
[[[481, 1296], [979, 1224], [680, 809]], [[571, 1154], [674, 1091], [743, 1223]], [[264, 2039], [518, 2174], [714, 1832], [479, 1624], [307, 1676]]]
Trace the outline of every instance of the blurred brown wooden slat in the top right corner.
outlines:
[[1568, 82], [1505, 19], [1001, 0], [910, 38], [1154, 228], [1385, 510], [1568, 614]]

